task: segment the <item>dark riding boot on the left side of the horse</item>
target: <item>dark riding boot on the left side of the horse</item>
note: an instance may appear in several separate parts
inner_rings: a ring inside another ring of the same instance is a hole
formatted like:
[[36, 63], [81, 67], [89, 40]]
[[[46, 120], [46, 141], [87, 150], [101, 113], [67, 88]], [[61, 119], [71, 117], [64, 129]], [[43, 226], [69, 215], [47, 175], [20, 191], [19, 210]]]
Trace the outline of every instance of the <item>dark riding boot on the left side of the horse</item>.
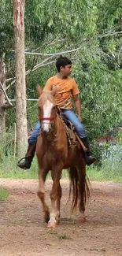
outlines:
[[36, 148], [36, 142], [31, 146], [29, 145], [27, 154], [25, 155], [25, 158], [20, 159], [20, 161], [23, 159], [24, 159], [24, 161], [22, 161], [21, 163], [20, 163], [20, 161], [18, 161], [17, 166], [19, 166], [21, 169], [30, 169], [31, 161], [35, 155], [35, 148]]

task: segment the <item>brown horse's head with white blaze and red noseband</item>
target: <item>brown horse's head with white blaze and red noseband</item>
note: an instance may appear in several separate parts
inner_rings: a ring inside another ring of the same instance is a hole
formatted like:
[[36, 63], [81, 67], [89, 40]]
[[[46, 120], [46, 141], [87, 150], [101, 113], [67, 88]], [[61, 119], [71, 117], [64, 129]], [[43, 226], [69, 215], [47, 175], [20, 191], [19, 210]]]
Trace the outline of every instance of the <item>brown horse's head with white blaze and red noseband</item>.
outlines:
[[57, 114], [57, 107], [54, 101], [56, 90], [42, 91], [42, 89], [38, 86], [37, 91], [40, 95], [37, 104], [39, 109], [39, 121], [42, 124], [43, 132], [50, 132], [54, 125], [54, 120]]

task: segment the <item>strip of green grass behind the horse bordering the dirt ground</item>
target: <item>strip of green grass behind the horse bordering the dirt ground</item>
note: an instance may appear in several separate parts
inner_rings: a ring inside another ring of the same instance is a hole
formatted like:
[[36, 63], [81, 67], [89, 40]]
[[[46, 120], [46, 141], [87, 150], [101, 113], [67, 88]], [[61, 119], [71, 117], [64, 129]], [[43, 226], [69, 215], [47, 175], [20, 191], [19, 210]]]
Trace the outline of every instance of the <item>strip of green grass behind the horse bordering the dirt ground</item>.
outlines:
[[[92, 181], [113, 181], [122, 183], [122, 162], [113, 159], [103, 161], [102, 167], [91, 165], [87, 167], [87, 176]], [[2, 158], [0, 162], [0, 178], [9, 179], [38, 179], [38, 165], [36, 158], [32, 162], [31, 169], [22, 170], [17, 167], [17, 159], [13, 156]], [[50, 173], [47, 179], [51, 179]], [[62, 179], [68, 179], [68, 172], [63, 170]]]

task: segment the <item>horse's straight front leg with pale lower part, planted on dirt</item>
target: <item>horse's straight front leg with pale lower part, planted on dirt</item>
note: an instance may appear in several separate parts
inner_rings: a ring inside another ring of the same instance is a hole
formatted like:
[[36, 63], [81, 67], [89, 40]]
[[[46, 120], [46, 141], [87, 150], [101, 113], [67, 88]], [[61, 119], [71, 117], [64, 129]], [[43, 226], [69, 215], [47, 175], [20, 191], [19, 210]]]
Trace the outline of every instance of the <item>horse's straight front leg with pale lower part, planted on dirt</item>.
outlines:
[[50, 191], [51, 200], [51, 210], [50, 210], [50, 220], [48, 221], [48, 228], [55, 228], [56, 224], [59, 223], [60, 218], [60, 201], [61, 201], [61, 171], [62, 167], [59, 169], [52, 170], [53, 186]]

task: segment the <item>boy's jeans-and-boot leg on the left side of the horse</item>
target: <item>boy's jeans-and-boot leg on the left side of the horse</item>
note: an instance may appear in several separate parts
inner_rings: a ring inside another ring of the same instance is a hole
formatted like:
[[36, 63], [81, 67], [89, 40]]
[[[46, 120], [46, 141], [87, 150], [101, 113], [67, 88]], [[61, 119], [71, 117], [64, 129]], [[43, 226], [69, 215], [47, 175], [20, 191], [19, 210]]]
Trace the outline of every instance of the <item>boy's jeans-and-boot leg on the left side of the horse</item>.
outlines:
[[35, 155], [35, 148], [36, 148], [36, 141], [37, 137], [39, 135], [39, 131], [41, 128], [41, 124], [38, 121], [38, 123], [35, 125], [35, 129], [33, 130], [31, 134], [31, 138], [28, 141], [28, 150], [25, 155], [24, 161], [18, 163], [18, 166], [21, 169], [29, 169], [31, 167], [31, 161], [34, 158]]

